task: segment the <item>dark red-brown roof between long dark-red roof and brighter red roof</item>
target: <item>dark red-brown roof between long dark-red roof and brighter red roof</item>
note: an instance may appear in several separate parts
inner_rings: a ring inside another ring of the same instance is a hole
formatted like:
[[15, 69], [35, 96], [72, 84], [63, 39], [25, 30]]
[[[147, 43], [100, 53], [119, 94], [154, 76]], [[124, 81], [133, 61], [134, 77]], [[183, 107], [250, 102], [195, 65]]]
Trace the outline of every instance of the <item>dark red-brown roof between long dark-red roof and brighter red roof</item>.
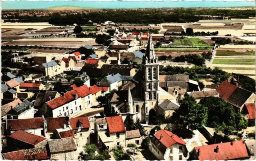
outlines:
[[60, 118], [46, 118], [47, 131], [54, 131], [56, 129], [63, 129], [64, 124], [68, 127], [68, 117]]

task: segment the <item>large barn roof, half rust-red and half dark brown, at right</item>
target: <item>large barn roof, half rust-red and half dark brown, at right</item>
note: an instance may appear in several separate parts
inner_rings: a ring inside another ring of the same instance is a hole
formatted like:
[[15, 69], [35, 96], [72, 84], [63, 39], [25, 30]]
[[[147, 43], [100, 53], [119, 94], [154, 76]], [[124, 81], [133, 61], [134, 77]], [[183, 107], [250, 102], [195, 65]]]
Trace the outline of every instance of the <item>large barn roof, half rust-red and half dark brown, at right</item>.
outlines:
[[252, 92], [230, 84], [228, 82], [222, 82], [216, 91], [219, 93], [219, 96], [226, 102], [241, 108], [243, 104], [252, 96]]

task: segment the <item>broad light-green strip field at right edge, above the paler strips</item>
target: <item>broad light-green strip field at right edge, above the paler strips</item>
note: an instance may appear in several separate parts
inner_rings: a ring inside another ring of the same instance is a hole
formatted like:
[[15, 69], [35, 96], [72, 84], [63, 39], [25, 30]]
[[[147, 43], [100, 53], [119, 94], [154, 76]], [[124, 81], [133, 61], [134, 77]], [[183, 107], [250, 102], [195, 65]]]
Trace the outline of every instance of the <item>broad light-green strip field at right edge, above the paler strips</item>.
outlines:
[[213, 64], [255, 65], [255, 59], [214, 59]]

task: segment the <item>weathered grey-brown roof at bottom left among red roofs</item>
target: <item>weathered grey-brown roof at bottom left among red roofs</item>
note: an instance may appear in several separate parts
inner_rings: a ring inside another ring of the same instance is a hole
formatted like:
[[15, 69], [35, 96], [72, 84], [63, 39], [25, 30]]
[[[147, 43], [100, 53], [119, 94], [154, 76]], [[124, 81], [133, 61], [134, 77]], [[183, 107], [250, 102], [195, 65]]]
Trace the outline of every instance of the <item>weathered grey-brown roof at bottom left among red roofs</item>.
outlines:
[[73, 137], [49, 140], [48, 143], [50, 147], [50, 153], [74, 151], [77, 149]]

